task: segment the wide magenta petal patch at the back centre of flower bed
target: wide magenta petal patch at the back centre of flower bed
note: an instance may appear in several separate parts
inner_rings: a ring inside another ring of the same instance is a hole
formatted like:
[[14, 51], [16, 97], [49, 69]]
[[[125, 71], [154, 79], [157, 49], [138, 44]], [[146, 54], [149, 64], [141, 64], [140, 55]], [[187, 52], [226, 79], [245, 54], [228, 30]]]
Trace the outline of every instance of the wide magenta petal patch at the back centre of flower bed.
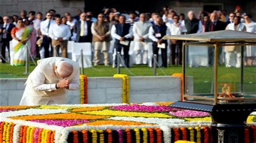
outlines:
[[177, 111], [176, 108], [171, 108], [169, 106], [160, 105], [160, 106], [148, 106], [148, 105], [120, 105], [112, 106], [110, 109], [121, 110], [121, 111], [138, 111], [138, 112], [166, 112], [166, 111]]

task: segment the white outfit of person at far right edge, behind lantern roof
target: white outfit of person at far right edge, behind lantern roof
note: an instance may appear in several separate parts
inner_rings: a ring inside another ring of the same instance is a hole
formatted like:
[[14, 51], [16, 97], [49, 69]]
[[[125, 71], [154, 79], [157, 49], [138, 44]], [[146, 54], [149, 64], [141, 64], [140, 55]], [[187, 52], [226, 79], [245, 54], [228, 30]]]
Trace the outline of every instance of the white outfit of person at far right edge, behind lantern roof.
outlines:
[[[244, 24], [246, 26], [246, 31], [247, 32], [252, 32], [252, 33], [256, 33], [256, 23], [251, 22], [249, 24]], [[246, 52], [245, 52], [245, 56], [256, 56], [256, 46], [246, 46]]]

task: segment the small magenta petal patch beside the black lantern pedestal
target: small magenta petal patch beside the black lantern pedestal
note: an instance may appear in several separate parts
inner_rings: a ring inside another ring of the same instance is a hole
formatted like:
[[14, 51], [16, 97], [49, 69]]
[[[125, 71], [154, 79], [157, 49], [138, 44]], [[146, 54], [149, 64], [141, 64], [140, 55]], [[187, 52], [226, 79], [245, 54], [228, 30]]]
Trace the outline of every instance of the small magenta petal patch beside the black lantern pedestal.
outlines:
[[177, 117], [203, 117], [203, 116], [210, 116], [210, 113], [201, 112], [201, 111], [194, 111], [194, 110], [180, 110], [176, 112], [170, 112], [171, 115]]

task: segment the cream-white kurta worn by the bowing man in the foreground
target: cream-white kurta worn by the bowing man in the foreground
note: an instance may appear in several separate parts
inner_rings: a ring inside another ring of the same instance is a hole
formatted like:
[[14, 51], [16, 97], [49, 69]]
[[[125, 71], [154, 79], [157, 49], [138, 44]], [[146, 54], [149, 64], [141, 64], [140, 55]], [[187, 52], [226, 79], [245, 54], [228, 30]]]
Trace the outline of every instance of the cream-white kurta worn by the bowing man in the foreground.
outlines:
[[56, 104], [65, 104], [66, 89], [56, 89], [56, 83], [63, 78], [57, 77], [54, 67], [60, 60], [68, 61], [73, 65], [73, 73], [65, 79], [70, 80], [68, 90], [77, 90], [80, 87], [79, 65], [75, 61], [66, 58], [46, 58], [39, 60], [38, 66], [29, 75], [26, 81], [21, 102], [19, 105], [43, 105], [50, 100]]

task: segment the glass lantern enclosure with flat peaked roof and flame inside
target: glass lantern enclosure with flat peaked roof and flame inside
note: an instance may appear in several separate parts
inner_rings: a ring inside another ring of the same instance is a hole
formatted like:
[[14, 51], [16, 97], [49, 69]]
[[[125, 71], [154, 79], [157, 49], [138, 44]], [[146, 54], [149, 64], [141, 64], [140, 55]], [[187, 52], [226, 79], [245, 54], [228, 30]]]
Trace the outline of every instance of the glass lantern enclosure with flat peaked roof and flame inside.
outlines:
[[171, 35], [183, 40], [183, 102], [256, 103], [256, 33]]

